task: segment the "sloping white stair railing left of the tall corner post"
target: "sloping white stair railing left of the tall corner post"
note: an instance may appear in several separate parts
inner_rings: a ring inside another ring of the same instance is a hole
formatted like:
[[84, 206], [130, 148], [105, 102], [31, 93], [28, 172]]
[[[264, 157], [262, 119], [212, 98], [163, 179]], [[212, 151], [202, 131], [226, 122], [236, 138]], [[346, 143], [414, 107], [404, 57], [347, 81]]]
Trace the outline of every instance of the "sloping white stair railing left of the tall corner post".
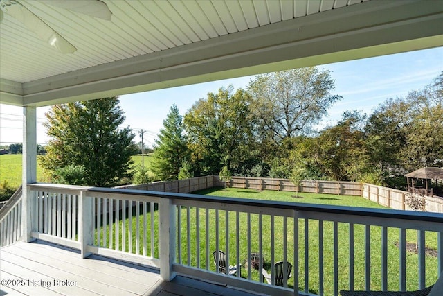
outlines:
[[0, 247], [20, 241], [22, 234], [20, 186], [0, 209]]

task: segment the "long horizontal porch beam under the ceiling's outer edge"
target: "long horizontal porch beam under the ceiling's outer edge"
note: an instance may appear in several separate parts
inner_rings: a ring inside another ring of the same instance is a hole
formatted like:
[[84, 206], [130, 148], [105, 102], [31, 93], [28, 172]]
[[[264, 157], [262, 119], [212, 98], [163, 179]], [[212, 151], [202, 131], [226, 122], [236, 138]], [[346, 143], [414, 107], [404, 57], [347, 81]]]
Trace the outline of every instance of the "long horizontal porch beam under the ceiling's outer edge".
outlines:
[[443, 46], [440, 1], [368, 1], [23, 84], [52, 105]]

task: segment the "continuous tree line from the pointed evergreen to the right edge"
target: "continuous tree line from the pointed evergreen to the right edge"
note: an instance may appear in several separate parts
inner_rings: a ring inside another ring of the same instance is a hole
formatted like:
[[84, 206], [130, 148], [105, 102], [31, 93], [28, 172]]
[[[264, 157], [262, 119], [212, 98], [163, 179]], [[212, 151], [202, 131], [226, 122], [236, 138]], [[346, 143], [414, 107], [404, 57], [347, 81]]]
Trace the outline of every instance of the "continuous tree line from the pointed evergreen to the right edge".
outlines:
[[369, 182], [404, 188], [404, 174], [443, 166], [443, 74], [372, 114], [343, 113], [315, 130], [334, 80], [317, 67], [255, 76], [247, 89], [209, 93], [184, 116], [173, 105], [156, 141], [152, 171], [161, 180], [244, 175]]

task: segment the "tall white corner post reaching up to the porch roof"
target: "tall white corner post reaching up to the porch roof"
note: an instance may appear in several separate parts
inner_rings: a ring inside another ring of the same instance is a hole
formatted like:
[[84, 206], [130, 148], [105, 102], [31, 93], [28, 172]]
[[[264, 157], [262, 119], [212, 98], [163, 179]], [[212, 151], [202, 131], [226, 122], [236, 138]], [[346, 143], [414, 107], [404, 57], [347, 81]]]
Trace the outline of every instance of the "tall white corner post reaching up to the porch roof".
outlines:
[[35, 107], [23, 108], [23, 166], [22, 166], [23, 193], [22, 193], [22, 211], [21, 225], [23, 240], [28, 243], [33, 240], [31, 232], [33, 231], [32, 216], [33, 202], [31, 200], [28, 184], [37, 182], [37, 112]]

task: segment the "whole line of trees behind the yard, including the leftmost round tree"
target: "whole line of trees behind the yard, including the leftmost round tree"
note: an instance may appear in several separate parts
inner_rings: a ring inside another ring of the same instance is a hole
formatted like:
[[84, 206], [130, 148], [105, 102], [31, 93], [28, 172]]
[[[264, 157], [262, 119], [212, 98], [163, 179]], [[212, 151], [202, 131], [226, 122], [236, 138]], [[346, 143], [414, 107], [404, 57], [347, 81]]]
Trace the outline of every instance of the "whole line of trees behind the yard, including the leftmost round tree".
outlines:
[[332, 73], [308, 67], [255, 76], [245, 89], [221, 87], [183, 116], [172, 105], [154, 147], [154, 175], [132, 171], [135, 134], [118, 128], [125, 116], [117, 97], [56, 105], [46, 114], [53, 140], [40, 159], [60, 182], [93, 186], [221, 172], [398, 187], [407, 171], [443, 165], [443, 74], [370, 115], [350, 110], [316, 130], [341, 99], [334, 87]]

